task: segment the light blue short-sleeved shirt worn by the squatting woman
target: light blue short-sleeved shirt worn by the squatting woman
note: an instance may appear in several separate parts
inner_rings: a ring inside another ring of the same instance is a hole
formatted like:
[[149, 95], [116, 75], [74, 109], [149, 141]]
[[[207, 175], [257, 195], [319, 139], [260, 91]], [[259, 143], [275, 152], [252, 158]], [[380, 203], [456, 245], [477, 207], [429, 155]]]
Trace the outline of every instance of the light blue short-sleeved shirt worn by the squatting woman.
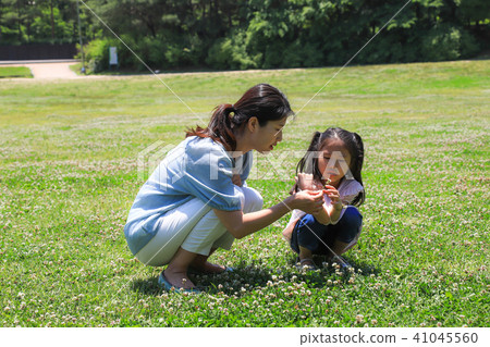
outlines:
[[136, 255], [156, 235], [154, 224], [170, 210], [198, 198], [209, 207], [237, 211], [242, 206], [232, 176], [245, 183], [252, 151], [235, 160], [211, 138], [187, 137], [171, 150], [139, 189], [124, 226], [124, 236]]

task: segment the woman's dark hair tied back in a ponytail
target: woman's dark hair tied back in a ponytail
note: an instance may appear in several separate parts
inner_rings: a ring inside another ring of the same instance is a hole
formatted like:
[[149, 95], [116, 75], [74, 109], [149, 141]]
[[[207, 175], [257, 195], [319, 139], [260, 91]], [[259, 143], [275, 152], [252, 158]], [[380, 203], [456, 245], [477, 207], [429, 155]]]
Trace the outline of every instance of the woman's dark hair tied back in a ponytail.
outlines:
[[191, 128], [188, 136], [210, 137], [229, 151], [236, 149], [235, 133], [241, 132], [248, 120], [256, 116], [259, 125], [278, 121], [294, 114], [284, 94], [268, 84], [259, 84], [248, 89], [235, 104], [224, 103], [215, 108], [208, 127]]

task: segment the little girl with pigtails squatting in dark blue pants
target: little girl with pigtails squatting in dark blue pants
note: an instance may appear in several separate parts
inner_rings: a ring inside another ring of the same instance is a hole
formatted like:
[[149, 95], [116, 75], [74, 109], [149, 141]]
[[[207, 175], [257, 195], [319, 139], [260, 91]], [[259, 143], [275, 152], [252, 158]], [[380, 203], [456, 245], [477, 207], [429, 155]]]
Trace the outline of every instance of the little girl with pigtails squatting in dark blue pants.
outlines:
[[364, 145], [356, 133], [340, 127], [315, 133], [297, 164], [292, 193], [323, 189], [323, 208], [313, 214], [295, 210], [283, 231], [301, 268], [315, 269], [313, 255], [350, 267], [340, 255], [357, 244], [360, 234], [363, 216], [356, 207], [365, 199], [363, 161]]

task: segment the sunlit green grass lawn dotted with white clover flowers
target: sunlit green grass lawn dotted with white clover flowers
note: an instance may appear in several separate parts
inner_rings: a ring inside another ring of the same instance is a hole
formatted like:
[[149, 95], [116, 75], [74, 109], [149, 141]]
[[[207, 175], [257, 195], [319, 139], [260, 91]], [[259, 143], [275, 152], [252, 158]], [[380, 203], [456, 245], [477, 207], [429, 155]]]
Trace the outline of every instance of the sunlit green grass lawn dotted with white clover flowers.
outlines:
[[248, 185], [270, 206], [314, 131], [362, 135], [353, 272], [297, 272], [289, 216], [213, 255], [236, 271], [195, 278], [203, 295], [162, 292], [161, 269], [133, 260], [122, 228], [142, 150], [179, 144], [257, 83], [298, 111], [336, 71], [160, 75], [193, 112], [154, 76], [2, 82], [2, 325], [489, 326], [490, 61], [345, 69], [256, 156]]

